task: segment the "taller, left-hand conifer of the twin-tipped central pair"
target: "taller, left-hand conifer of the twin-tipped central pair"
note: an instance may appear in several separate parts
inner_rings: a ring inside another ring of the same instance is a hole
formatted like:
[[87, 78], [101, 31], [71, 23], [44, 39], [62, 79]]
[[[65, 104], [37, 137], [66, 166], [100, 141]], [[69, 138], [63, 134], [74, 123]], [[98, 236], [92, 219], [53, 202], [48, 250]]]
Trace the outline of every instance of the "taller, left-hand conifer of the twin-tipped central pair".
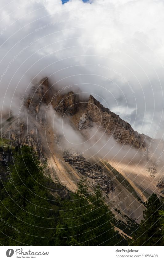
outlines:
[[[89, 221], [90, 206], [86, 200], [87, 191], [84, 180], [80, 180], [78, 189], [71, 200], [63, 202], [61, 220], [54, 237], [54, 245], [75, 245], [81, 240]], [[80, 242], [80, 245], [85, 245]]]

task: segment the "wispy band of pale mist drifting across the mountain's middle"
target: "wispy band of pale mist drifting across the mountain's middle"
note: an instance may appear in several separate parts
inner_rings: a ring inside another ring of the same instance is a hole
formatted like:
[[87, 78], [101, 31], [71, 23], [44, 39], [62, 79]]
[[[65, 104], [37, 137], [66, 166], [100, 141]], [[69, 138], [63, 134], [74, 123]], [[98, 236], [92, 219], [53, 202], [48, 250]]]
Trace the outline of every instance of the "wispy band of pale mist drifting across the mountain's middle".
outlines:
[[133, 159], [141, 160], [141, 152], [131, 148], [130, 145], [118, 144], [112, 136], [107, 136], [96, 126], [88, 129], [84, 138], [71, 123], [70, 118], [66, 115], [62, 117], [60, 113], [54, 111], [52, 106], [46, 113], [46, 122], [51, 123], [54, 132], [53, 142], [57, 146], [57, 152], [62, 156], [65, 154], [82, 155], [89, 161], [94, 158], [97, 161], [114, 159], [124, 163], [129, 163]]

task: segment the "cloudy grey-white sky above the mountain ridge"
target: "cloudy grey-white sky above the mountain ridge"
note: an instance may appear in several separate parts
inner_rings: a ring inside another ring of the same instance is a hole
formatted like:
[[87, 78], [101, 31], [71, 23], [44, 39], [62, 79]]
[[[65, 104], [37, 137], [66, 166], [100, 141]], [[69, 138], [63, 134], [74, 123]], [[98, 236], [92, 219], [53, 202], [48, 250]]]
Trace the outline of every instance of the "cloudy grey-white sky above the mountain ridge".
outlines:
[[[163, 136], [164, 1], [1, 1], [0, 110], [48, 76]], [[158, 15], [157, 15], [158, 14]]]

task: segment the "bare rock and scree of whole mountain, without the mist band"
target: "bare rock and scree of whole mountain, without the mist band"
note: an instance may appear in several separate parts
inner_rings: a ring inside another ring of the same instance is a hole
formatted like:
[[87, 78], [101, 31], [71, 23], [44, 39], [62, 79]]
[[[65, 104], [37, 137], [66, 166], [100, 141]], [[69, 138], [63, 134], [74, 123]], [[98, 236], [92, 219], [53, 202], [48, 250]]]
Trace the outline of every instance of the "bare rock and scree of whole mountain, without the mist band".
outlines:
[[[140, 222], [144, 209], [142, 201], [145, 201], [152, 192], [158, 193], [159, 189], [162, 191], [163, 186], [163, 179], [161, 183], [158, 182], [161, 176], [158, 169], [154, 176], [146, 170], [150, 161], [148, 153], [144, 158], [144, 164], [139, 163], [138, 159], [125, 164], [110, 158], [104, 161], [85, 155], [85, 152], [80, 155], [77, 149], [68, 150], [61, 145], [64, 137], [58, 134], [60, 133], [58, 121], [54, 120], [57, 130], [55, 132], [53, 120], [48, 118], [47, 114], [51, 110], [51, 113], [57, 114], [63, 122], [66, 117], [67, 126], [70, 125], [75, 130], [74, 133], [78, 133], [85, 140], [94, 127], [106, 133], [107, 137], [113, 137], [115, 143], [121, 146], [126, 144], [144, 152], [146, 144], [151, 139], [144, 134], [138, 134], [130, 126], [128, 119], [127, 122], [123, 121], [110, 109], [104, 108], [92, 95], [84, 100], [72, 91], [60, 93], [57, 97], [54, 97], [53, 93], [48, 78], [34, 85], [24, 102], [24, 113], [21, 114], [19, 123], [20, 133], [18, 133], [18, 118], [12, 117], [2, 126], [3, 137], [10, 139], [13, 146], [18, 144], [32, 146], [42, 160], [47, 160], [46, 175], [50, 175], [55, 183], [74, 191], [78, 180], [84, 178], [91, 193], [94, 192], [96, 184], [99, 184], [106, 203], [119, 217], [118, 219], [124, 220], [126, 215]], [[128, 200], [124, 200], [127, 196]]]

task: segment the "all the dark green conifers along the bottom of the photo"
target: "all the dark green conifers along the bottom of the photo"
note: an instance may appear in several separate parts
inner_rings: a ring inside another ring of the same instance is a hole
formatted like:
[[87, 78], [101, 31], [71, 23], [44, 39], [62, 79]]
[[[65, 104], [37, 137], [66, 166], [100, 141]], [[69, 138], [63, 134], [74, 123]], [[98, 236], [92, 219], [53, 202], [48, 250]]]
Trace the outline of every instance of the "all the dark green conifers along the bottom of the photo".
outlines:
[[[80, 180], [69, 199], [56, 199], [49, 192], [51, 187], [54, 191], [55, 184], [46, 178], [45, 169], [46, 164], [32, 148], [15, 149], [14, 164], [9, 166], [6, 182], [0, 184], [2, 245], [127, 245], [127, 240], [114, 231], [114, 216], [99, 186], [90, 195], [85, 180]], [[155, 194], [146, 208], [145, 220], [134, 233], [133, 244], [160, 245], [163, 216], [159, 214], [161, 202]]]

